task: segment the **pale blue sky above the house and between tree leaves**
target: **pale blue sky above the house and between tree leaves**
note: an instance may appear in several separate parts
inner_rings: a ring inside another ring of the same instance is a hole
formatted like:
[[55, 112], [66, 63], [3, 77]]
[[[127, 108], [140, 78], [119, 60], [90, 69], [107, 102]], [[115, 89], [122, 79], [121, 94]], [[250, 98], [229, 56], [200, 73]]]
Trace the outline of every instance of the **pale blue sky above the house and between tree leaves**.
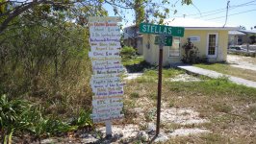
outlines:
[[[154, 1], [159, 2], [160, 0]], [[177, 13], [173, 14], [170, 12], [169, 18], [183, 17], [185, 15], [185, 17], [188, 18], [197, 18], [224, 24], [227, 1], [228, 0], [192, 0], [193, 5], [190, 6], [181, 6], [180, 3], [177, 3], [174, 8], [177, 10]], [[170, 0], [170, 3], [175, 2], [176, 0]], [[109, 12], [110, 16], [115, 15], [112, 7], [108, 5], [104, 7]], [[165, 7], [173, 10], [170, 5]], [[134, 21], [134, 12], [126, 10], [124, 15], [125, 19], [123, 20], [123, 25], [131, 25]], [[247, 30], [256, 26], [256, 0], [230, 0], [226, 25], [242, 25]]]

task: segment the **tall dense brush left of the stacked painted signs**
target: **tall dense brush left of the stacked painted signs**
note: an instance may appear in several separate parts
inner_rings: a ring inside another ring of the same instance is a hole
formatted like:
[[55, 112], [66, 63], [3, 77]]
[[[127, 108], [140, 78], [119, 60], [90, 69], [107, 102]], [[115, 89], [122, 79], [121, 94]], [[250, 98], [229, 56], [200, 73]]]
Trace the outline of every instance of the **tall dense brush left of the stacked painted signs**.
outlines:
[[92, 129], [88, 30], [65, 14], [26, 12], [0, 36], [2, 143]]

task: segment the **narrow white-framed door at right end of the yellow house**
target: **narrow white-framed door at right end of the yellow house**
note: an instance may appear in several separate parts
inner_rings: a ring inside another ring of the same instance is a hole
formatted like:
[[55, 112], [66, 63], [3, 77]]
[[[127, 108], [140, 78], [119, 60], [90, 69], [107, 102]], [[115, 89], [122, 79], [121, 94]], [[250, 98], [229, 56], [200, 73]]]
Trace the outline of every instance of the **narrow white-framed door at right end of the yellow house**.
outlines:
[[208, 58], [217, 58], [218, 53], [218, 34], [211, 33], [207, 36], [207, 56]]

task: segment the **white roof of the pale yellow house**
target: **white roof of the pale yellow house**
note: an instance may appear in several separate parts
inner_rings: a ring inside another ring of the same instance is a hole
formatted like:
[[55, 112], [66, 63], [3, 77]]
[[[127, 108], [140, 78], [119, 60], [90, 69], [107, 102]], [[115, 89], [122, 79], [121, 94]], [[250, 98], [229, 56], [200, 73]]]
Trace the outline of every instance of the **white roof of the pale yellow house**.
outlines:
[[169, 26], [184, 27], [186, 30], [239, 30], [239, 27], [229, 26], [193, 18], [166, 19], [164, 23]]

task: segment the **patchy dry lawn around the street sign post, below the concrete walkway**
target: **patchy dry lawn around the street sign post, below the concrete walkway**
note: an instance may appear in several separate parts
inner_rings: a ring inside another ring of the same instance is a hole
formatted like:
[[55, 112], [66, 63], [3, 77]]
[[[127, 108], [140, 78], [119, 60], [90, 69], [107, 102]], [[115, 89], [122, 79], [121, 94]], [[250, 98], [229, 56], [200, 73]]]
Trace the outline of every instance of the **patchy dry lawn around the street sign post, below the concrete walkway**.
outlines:
[[[183, 73], [184, 71], [177, 69], [164, 69], [163, 80]], [[135, 102], [134, 108], [144, 109], [145, 122], [155, 120], [154, 113], [150, 109], [156, 108], [157, 78], [156, 69], [147, 69], [141, 78], [131, 81], [125, 86], [127, 96], [125, 99]], [[194, 108], [199, 112], [200, 117], [210, 120], [210, 123], [198, 126], [161, 124], [161, 129], [168, 132], [181, 127], [199, 127], [207, 128], [212, 133], [175, 137], [166, 143], [249, 143], [253, 141], [256, 135], [246, 136], [244, 134], [253, 131], [250, 126], [255, 122], [256, 107], [253, 106], [256, 103], [256, 88], [233, 84], [225, 77], [199, 78], [202, 81], [165, 81], [162, 87], [162, 108]], [[134, 99], [138, 96], [137, 93], [140, 97]], [[248, 104], [251, 106], [246, 108]], [[124, 103], [125, 105], [126, 103]], [[137, 120], [141, 119], [137, 118]], [[140, 122], [134, 121], [135, 124]], [[245, 136], [246, 138], [244, 138]]]

